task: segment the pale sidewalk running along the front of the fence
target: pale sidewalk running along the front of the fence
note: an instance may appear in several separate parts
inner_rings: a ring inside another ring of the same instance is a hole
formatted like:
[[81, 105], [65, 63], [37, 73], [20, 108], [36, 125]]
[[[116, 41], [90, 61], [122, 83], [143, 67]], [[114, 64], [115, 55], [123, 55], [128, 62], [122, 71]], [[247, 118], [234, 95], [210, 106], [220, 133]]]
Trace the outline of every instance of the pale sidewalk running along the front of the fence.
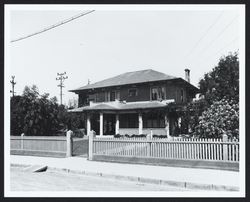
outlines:
[[88, 161], [82, 157], [10, 156], [11, 165], [42, 165], [49, 169], [99, 175], [145, 183], [172, 184], [195, 189], [239, 190], [239, 172]]

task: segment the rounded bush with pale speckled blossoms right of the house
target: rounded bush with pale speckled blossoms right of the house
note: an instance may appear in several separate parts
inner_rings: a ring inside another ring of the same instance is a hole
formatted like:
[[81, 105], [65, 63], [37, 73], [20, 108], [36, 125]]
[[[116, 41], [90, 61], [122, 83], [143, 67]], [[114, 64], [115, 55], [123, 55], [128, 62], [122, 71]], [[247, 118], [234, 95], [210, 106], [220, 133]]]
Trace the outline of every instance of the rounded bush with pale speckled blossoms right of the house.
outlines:
[[205, 110], [195, 130], [199, 137], [222, 138], [223, 134], [239, 138], [239, 104], [227, 99], [215, 101]]

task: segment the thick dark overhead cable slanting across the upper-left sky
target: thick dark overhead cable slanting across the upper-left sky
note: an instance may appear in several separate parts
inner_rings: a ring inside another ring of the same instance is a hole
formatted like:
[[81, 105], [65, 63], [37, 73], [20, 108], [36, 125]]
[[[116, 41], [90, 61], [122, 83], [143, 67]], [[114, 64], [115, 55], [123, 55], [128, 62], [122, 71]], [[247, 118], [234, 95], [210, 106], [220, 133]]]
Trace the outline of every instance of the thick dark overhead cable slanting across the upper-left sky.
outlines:
[[33, 34], [29, 34], [29, 35], [27, 35], [27, 36], [23, 36], [23, 37], [20, 37], [20, 38], [18, 38], [18, 39], [14, 39], [14, 40], [11, 41], [11, 43], [17, 42], [17, 41], [20, 41], [20, 40], [23, 40], [23, 39], [27, 39], [27, 38], [29, 38], [29, 37], [32, 37], [32, 36], [41, 34], [41, 33], [46, 32], [46, 31], [49, 31], [49, 30], [51, 30], [51, 29], [54, 29], [54, 28], [56, 28], [56, 27], [59, 27], [59, 26], [61, 26], [61, 25], [63, 25], [63, 24], [66, 24], [66, 23], [68, 23], [68, 22], [71, 22], [71, 21], [73, 21], [73, 20], [75, 20], [75, 19], [77, 19], [77, 18], [80, 18], [80, 17], [82, 17], [82, 16], [84, 16], [84, 15], [87, 15], [87, 14], [89, 14], [89, 13], [92, 13], [92, 12], [94, 12], [94, 10], [91, 10], [91, 11], [88, 11], [88, 12], [84, 12], [84, 13], [80, 13], [80, 14], [75, 15], [75, 16], [73, 16], [73, 17], [70, 17], [70, 18], [68, 18], [68, 19], [66, 19], [66, 20], [63, 20], [63, 21], [58, 22], [58, 23], [56, 23], [56, 24], [53, 24], [53, 25], [51, 25], [51, 26], [49, 26], [49, 27], [46, 27], [46, 28], [44, 28], [44, 29], [42, 29], [42, 30], [40, 30], [40, 31], [37, 31], [37, 32], [35, 32], [35, 33], [33, 33]]

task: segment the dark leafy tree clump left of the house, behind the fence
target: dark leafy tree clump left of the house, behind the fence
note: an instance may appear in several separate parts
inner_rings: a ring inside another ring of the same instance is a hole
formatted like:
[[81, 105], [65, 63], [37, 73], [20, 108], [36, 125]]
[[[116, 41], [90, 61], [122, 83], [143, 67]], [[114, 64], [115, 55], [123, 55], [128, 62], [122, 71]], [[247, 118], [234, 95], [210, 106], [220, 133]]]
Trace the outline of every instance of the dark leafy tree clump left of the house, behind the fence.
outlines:
[[55, 135], [65, 129], [84, 128], [81, 114], [68, 113], [57, 98], [39, 94], [37, 86], [26, 86], [22, 96], [11, 98], [11, 135]]

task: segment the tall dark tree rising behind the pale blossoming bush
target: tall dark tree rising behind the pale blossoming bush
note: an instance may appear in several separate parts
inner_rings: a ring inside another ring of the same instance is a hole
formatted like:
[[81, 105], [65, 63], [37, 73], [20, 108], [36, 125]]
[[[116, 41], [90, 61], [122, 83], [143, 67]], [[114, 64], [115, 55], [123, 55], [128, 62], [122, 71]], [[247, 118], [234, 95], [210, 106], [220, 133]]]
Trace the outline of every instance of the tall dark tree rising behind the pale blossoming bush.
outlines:
[[218, 65], [200, 80], [199, 87], [210, 105], [223, 98], [239, 102], [238, 53], [222, 57]]

